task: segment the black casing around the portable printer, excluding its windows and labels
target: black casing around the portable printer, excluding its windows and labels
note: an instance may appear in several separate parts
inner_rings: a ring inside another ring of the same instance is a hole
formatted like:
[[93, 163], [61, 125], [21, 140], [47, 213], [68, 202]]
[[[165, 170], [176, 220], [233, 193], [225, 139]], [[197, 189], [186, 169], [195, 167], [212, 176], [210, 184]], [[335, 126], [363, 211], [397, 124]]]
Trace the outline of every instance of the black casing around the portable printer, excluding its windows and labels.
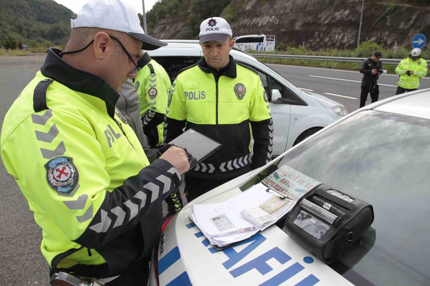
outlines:
[[[327, 190], [338, 191], [347, 195], [353, 199], [353, 201], [345, 201], [344, 199], [327, 193]], [[329, 203], [335, 203], [347, 211], [345, 211], [343, 216], [338, 216], [338, 213], [335, 213], [338, 219], [330, 224], [322, 217], [318, 216], [317, 211], [311, 213], [309, 209], [300, 205], [301, 201], [304, 199], [311, 200], [311, 197], [314, 195], [317, 195], [319, 198]], [[298, 218], [298, 215], [301, 214], [301, 211], [310, 213], [313, 217], [325, 222], [330, 226], [329, 230], [319, 239], [304, 231], [301, 227], [293, 223], [295, 219]], [[372, 205], [326, 184], [320, 184], [304, 194], [297, 201], [295, 207], [286, 219], [285, 227], [288, 235], [301, 247], [312, 253], [322, 262], [329, 264], [338, 260], [345, 253], [347, 248], [361, 237], [370, 225], [372, 225], [374, 217]]]

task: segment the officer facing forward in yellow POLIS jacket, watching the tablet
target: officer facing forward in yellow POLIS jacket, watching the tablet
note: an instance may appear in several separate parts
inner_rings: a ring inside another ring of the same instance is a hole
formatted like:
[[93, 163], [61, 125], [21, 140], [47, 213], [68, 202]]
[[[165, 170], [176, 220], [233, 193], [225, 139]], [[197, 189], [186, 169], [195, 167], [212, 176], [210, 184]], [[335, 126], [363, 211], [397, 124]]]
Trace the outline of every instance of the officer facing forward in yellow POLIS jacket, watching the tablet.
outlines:
[[185, 174], [188, 201], [268, 163], [273, 146], [267, 93], [258, 74], [230, 56], [230, 25], [223, 18], [206, 19], [200, 24], [199, 43], [203, 57], [182, 70], [172, 85], [165, 142], [193, 128], [222, 148]]

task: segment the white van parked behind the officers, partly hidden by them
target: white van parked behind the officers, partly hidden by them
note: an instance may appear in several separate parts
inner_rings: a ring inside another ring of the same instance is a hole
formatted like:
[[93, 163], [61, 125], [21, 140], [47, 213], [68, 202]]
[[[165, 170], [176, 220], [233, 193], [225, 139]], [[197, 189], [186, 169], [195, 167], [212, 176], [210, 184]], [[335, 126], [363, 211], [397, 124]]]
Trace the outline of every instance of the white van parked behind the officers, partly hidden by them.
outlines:
[[[178, 72], [203, 56], [198, 40], [163, 40], [169, 43], [148, 54], [161, 64], [173, 82]], [[233, 48], [230, 55], [255, 70], [269, 96], [275, 137], [272, 155], [277, 156], [319, 129], [348, 114], [347, 109], [319, 94], [301, 91], [270, 67], [246, 52]]]

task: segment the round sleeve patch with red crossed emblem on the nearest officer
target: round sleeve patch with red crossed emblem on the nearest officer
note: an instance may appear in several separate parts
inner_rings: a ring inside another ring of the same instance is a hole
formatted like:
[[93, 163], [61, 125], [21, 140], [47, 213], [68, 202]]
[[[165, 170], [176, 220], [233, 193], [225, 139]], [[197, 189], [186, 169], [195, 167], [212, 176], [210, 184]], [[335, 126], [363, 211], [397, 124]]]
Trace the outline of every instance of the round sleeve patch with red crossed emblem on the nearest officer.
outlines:
[[61, 194], [70, 194], [77, 186], [79, 173], [73, 159], [67, 156], [52, 158], [45, 164], [48, 185]]

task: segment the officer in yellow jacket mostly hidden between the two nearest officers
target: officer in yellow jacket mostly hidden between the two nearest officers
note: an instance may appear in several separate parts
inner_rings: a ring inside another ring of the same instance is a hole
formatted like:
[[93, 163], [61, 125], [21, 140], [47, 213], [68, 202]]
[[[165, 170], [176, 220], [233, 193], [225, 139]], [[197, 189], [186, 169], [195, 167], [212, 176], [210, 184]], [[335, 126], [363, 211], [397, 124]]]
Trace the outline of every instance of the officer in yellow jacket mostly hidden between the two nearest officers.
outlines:
[[[138, 60], [137, 65], [141, 70], [138, 71], [134, 83], [139, 97], [143, 132], [148, 137], [151, 147], [160, 146], [164, 142], [163, 121], [172, 85], [166, 70], [151, 59], [147, 52]], [[172, 193], [166, 199], [166, 203], [168, 212], [166, 219], [184, 206], [179, 192]]]

